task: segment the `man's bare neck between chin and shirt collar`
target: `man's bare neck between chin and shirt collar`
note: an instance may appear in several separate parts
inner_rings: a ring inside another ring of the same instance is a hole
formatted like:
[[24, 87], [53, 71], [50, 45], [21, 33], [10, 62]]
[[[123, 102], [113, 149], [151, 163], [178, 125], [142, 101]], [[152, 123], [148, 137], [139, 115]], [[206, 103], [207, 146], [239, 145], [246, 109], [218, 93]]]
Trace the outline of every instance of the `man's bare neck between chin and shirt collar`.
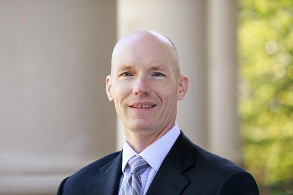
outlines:
[[125, 139], [127, 143], [132, 147], [138, 154], [144, 151], [149, 145], [160, 139], [175, 125], [175, 119], [169, 122], [165, 127], [155, 131], [154, 133], [142, 134], [128, 130], [124, 125]]

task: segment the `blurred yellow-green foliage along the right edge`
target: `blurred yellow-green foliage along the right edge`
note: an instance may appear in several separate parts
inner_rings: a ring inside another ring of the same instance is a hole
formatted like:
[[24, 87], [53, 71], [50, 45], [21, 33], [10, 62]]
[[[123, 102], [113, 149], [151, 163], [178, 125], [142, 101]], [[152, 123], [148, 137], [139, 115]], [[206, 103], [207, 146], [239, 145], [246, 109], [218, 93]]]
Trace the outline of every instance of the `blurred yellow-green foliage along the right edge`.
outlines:
[[293, 0], [239, 0], [244, 167], [262, 194], [293, 194]]

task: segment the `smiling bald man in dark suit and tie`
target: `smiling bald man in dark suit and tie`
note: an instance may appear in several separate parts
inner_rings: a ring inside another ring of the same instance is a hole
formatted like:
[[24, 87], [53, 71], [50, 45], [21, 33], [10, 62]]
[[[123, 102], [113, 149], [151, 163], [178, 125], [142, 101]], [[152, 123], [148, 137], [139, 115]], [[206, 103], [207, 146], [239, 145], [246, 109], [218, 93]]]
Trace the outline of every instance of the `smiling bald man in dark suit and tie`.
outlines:
[[177, 101], [187, 89], [169, 39], [147, 30], [123, 37], [106, 78], [123, 122], [123, 150], [64, 179], [57, 194], [259, 194], [249, 173], [179, 130]]

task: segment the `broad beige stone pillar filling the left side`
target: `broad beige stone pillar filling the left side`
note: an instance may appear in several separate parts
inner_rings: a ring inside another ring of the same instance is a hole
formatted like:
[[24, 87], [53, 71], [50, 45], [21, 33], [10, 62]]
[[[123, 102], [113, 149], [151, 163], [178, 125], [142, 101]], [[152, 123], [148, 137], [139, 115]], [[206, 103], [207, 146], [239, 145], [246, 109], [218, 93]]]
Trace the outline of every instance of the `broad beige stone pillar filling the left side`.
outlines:
[[56, 194], [115, 151], [116, 1], [2, 0], [0, 29], [0, 194]]

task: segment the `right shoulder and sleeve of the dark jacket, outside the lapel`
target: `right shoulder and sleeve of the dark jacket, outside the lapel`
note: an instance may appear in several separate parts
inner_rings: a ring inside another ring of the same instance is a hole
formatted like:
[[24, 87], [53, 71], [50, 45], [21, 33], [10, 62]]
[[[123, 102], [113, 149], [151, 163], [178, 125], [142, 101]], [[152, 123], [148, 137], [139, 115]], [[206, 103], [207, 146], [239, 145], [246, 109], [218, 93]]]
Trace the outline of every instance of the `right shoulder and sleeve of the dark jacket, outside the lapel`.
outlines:
[[195, 184], [200, 184], [195, 187], [199, 194], [245, 194], [248, 191], [258, 194], [254, 178], [242, 167], [193, 145], [195, 166], [185, 175]]

